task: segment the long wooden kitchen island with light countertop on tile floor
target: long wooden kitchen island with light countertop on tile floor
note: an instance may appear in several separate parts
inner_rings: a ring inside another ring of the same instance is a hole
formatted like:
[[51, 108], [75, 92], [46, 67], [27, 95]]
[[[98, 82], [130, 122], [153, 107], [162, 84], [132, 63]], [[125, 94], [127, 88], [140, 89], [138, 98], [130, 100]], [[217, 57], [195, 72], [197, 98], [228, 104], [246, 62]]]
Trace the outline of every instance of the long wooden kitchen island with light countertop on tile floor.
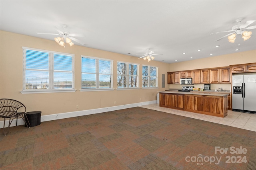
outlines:
[[159, 92], [159, 106], [206, 115], [228, 115], [228, 94], [201, 92]]

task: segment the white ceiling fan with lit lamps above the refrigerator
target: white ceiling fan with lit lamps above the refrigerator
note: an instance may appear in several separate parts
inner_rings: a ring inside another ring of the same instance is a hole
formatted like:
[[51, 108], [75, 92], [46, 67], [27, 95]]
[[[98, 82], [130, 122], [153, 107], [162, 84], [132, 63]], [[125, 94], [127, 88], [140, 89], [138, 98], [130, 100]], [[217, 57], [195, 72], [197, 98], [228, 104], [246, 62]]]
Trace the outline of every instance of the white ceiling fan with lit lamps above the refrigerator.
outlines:
[[238, 25], [235, 25], [234, 27], [232, 27], [231, 30], [211, 33], [210, 35], [217, 34], [217, 33], [224, 33], [224, 32], [232, 32], [232, 33], [229, 33], [229, 34], [217, 39], [216, 41], [219, 41], [225, 37], [228, 37], [228, 41], [230, 43], [234, 43], [237, 34], [241, 34], [244, 41], [246, 41], [252, 35], [252, 32], [246, 31], [246, 29], [255, 29], [256, 25], [248, 27], [248, 25], [254, 23], [255, 20], [246, 21], [245, 23], [240, 23], [241, 21], [242, 21], [242, 18], [237, 19], [236, 22], [238, 23]]

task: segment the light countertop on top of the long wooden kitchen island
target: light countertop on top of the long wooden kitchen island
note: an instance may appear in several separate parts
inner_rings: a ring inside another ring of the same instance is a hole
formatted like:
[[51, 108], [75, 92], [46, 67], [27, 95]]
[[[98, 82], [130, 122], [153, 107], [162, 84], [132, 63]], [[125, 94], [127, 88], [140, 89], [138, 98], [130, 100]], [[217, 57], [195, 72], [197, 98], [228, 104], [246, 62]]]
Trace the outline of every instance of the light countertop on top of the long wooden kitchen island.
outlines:
[[207, 92], [207, 91], [191, 91], [191, 92], [178, 92], [178, 91], [162, 91], [159, 93], [172, 93], [172, 94], [192, 94], [192, 95], [205, 95], [205, 96], [228, 96], [230, 92]]

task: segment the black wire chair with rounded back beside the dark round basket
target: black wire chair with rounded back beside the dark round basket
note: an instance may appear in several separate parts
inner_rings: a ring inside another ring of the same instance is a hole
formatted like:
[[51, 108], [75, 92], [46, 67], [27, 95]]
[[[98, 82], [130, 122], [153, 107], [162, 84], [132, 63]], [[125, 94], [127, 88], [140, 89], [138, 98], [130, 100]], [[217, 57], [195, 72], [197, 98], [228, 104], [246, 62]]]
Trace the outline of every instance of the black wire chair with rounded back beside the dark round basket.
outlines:
[[[18, 112], [20, 111], [20, 112]], [[10, 125], [13, 121], [13, 119], [17, 118], [18, 121], [18, 117], [22, 118], [24, 120], [24, 122], [26, 123], [27, 127], [30, 128], [30, 123], [28, 121], [25, 121], [25, 117], [28, 120], [27, 115], [25, 114], [26, 112], [26, 107], [18, 102], [17, 100], [12, 100], [12, 99], [0, 99], [0, 117], [4, 118], [4, 127], [5, 127], [5, 119], [9, 118], [9, 125], [8, 125], [8, 131], [7, 133], [4, 133], [4, 128], [3, 128], [3, 135], [6, 136], [9, 133], [9, 128]], [[25, 115], [25, 117], [24, 117]], [[11, 121], [12, 119], [12, 121]], [[17, 123], [16, 123], [17, 126]]]

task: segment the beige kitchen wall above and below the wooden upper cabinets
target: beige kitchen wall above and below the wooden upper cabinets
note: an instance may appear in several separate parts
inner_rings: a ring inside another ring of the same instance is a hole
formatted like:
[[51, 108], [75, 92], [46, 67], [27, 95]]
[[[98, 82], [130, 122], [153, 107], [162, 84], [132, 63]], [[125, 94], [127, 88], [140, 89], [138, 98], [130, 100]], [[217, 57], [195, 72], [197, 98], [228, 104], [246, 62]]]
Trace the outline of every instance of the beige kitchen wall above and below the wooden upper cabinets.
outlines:
[[[224, 67], [234, 64], [256, 63], [256, 50], [233, 53], [228, 55], [220, 55], [215, 57], [207, 57], [204, 59], [196, 59], [170, 64], [169, 71], [194, 70], [202, 68]], [[203, 88], [203, 84], [193, 84], [195, 88]], [[170, 84], [170, 88], [181, 88], [182, 85]], [[231, 90], [231, 84], [211, 84], [211, 89], [222, 88], [223, 90]]]

